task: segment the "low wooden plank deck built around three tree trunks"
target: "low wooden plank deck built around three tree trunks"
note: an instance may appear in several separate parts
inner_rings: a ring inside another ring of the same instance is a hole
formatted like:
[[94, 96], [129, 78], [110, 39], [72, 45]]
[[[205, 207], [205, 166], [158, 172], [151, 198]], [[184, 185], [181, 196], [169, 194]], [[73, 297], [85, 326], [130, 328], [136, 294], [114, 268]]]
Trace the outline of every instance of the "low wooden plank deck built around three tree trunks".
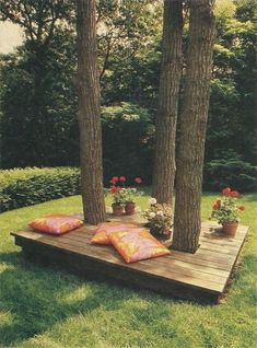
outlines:
[[[118, 220], [118, 219], [113, 219]], [[133, 221], [135, 218], [121, 218]], [[139, 224], [143, 221], [137, 219]], [[32, 260], [48, 260], [71, 271], [100, 279], [114, 279], [174, 298], [218, 303], [224, 292], [248, 228], [241, 225], [235, 237], [227, 237], [209, 222], [202, 223], [196, 254], [172, 251], [164, 257], [125, 264], [113, 246], [91, 244], [95, 227], [51, 236], [30, 230], [12, 232], [15, 244]]]

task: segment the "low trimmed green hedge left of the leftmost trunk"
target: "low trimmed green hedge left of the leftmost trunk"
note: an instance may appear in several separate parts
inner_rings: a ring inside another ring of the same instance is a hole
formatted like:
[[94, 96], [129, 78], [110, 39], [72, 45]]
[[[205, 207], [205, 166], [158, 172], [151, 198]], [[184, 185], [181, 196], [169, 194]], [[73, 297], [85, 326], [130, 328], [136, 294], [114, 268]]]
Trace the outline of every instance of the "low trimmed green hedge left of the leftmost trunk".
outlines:
[[0, 212], [80, 194], [77, 167], [0, 171]]

